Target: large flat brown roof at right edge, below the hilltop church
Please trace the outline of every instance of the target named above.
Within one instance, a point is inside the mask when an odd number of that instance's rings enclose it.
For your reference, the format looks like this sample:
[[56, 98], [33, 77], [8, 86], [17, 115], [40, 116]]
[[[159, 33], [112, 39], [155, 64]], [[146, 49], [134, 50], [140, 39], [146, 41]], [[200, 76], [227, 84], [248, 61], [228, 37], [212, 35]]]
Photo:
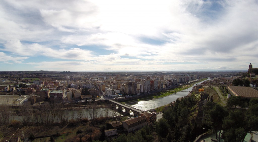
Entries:
[[244, 86], [228, 86], [236, 96], [241, 97], [258, 97], [258, 90], [255, 90], [251, 87]]

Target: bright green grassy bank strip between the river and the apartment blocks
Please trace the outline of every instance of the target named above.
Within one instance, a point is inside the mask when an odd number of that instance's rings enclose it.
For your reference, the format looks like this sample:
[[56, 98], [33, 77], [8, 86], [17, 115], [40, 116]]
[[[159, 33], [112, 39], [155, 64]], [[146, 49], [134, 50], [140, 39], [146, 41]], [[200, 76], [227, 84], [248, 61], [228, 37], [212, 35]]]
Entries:
[[[201, 82], [201, 81], [204, 81], [206, 79], [207, 78], [204, 78], [204, 79], [201, 79], [197, 82]], [[197, 82], [194, 82], [194, 83], [197, 83]], [[180, 88], [174, 88], [174, 89], [171, 89], [171, 90], [166, 90], [165, 92], [158, 92], [158, 93], [150, 94], [150, 95], [142, 97], [142, 98], [132, 99], [130, 101], [125, 101], [125, 102], [121, 102], [121, 103], [126, 104], [126, 103], [132, 103], [132, 102], [136, 102], [136, 101], [139, 102], [139, 101], [146, 101], [146, 100], [155, 99], [155, 98], [166, 97], [168, 95], [175, 94], [176, 92], [182, 91], [182, 90], [190, 88], [190, 87], [192, 87], [192, 85], [184, 85]]]

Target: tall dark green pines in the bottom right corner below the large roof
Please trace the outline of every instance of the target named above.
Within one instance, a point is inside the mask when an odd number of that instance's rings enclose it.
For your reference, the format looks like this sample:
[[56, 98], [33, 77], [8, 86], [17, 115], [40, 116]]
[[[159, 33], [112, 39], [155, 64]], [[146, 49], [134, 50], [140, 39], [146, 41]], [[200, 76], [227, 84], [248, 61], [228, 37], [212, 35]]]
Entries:
[[209, 133], [223, 130], [224, 141], [243, 141], [247, 133], [258, 130], [257, 110], [258, 98], [252, 98], [248, 102], [240, 96], [231, 96], [225, 107], [206, 103], [203, 123], [210, 128]]

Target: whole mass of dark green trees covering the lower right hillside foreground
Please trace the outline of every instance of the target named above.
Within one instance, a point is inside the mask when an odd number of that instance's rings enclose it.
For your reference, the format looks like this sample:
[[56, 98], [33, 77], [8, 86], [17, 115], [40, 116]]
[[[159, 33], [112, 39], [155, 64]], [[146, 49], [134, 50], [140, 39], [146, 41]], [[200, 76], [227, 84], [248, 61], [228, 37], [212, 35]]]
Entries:
[[[246, 109], [248, 107], [248, 109]], [[201, 122], [196, 121], [197, 110]], [[220, 141], [241, 142], [246, 134], [258, 130], [258, 98], [249, 102], [239, 96], [231, 96], [227, 105], [221, 106], [212, 102], [198, 103], [194, 97], [184, 97], [176, 100], [164, 113], [163, 118], [146, 129], [142, 128], [135, 133], [121, 135], [112, 141], [194, 141], [199, 135], [207, 132], [216, 135]], [[223, 131], [223, 133], [221, 133]]]

